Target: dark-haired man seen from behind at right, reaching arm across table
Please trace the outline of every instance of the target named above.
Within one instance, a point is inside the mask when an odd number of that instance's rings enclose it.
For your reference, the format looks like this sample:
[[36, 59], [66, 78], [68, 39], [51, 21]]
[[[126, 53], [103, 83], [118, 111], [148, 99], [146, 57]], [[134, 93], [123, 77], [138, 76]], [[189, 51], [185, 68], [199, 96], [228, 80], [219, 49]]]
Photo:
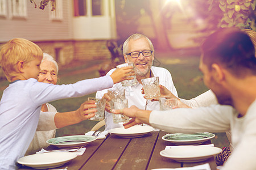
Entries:
[[[146, 123], [174, 132], [232, 131], [234, 150], [223, 169], [256, 169], [256, 59], [246, 33], [222, 28], [201, 45], [204, 83], [221, 105], [171, 111], [143, 111], [134, 106], [113, 113], [133, 118], [125, 128]], [[234, 108], [236, 108], [236, 110]]]

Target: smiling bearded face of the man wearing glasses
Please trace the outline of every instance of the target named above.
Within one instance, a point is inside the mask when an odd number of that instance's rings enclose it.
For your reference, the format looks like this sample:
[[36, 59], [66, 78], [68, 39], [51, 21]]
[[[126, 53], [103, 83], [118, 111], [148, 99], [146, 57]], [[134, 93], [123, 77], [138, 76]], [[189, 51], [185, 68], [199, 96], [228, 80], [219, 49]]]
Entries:
[[[129, 41], [127, 53], [142, 52], [144, 50], [152, 50], [150, 48], [149, 42], [144, 37], [142, 37], [141, 39]], [[140, 54], [138, 58], [131, 58], [130, 55], [126, 56], [126, 54], [124, 55], [124, 57], [125, 62], [129, 61], [134, 63], [134, 70], [136, 76], [141, 76], [143, 78], [150, 77], [150, 69], [154, 60], [154, 52], [149, 57], [144, 57], [142, 54]]]

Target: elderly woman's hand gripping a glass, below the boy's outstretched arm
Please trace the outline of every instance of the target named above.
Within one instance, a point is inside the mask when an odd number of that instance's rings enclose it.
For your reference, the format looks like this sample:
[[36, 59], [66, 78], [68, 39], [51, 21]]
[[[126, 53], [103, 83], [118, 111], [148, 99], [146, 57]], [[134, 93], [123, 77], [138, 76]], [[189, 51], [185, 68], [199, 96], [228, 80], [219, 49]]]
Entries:
[[[96, 109], [96, 101], [94, 100], [88, 100], [81, 104], [80, 108], [76, 111], [77, 118], [80, 119], [80, 121], [87, 120], [88, 118], [91, 118], [95, 116]], [[95, 109], [89, 109], [89, 108], [95, 108]], [[91, 114], [93, 113], [93, 114]]]

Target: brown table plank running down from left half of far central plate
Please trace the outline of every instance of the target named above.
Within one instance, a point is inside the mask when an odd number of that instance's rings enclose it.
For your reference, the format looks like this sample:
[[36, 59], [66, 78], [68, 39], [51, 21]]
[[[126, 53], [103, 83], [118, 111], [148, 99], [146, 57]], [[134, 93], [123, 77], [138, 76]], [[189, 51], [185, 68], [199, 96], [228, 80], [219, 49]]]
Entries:
[[86, 162], [81, 169], [112, 169], [120, 155], [129, 145], [130, 138], [119, 138], [113, 134], [105, 140], [97, 152]]

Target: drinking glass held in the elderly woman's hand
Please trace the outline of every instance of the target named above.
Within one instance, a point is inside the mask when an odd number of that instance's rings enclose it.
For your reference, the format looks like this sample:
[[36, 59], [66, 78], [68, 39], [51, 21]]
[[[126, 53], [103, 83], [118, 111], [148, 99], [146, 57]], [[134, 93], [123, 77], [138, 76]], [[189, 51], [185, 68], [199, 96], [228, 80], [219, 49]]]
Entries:
[[[94, 121], [101, 121], [104, 120], [105, 118], [105, 105], [106, 105], [106, 99], [96, 99], [95, 97], [88, 97], [88, 100], [94, 100], [96, 101], [96, 109], [97, 112], [95, 113], [95, 116], [89, 118], [89, 120], [94, 120]], [[89, 108], [89, 109], [94, 109], [94, 108]], [[88, 109], [88, 110], [89, 110]], [[92, 113], [90, 113], [92, 114]]]

